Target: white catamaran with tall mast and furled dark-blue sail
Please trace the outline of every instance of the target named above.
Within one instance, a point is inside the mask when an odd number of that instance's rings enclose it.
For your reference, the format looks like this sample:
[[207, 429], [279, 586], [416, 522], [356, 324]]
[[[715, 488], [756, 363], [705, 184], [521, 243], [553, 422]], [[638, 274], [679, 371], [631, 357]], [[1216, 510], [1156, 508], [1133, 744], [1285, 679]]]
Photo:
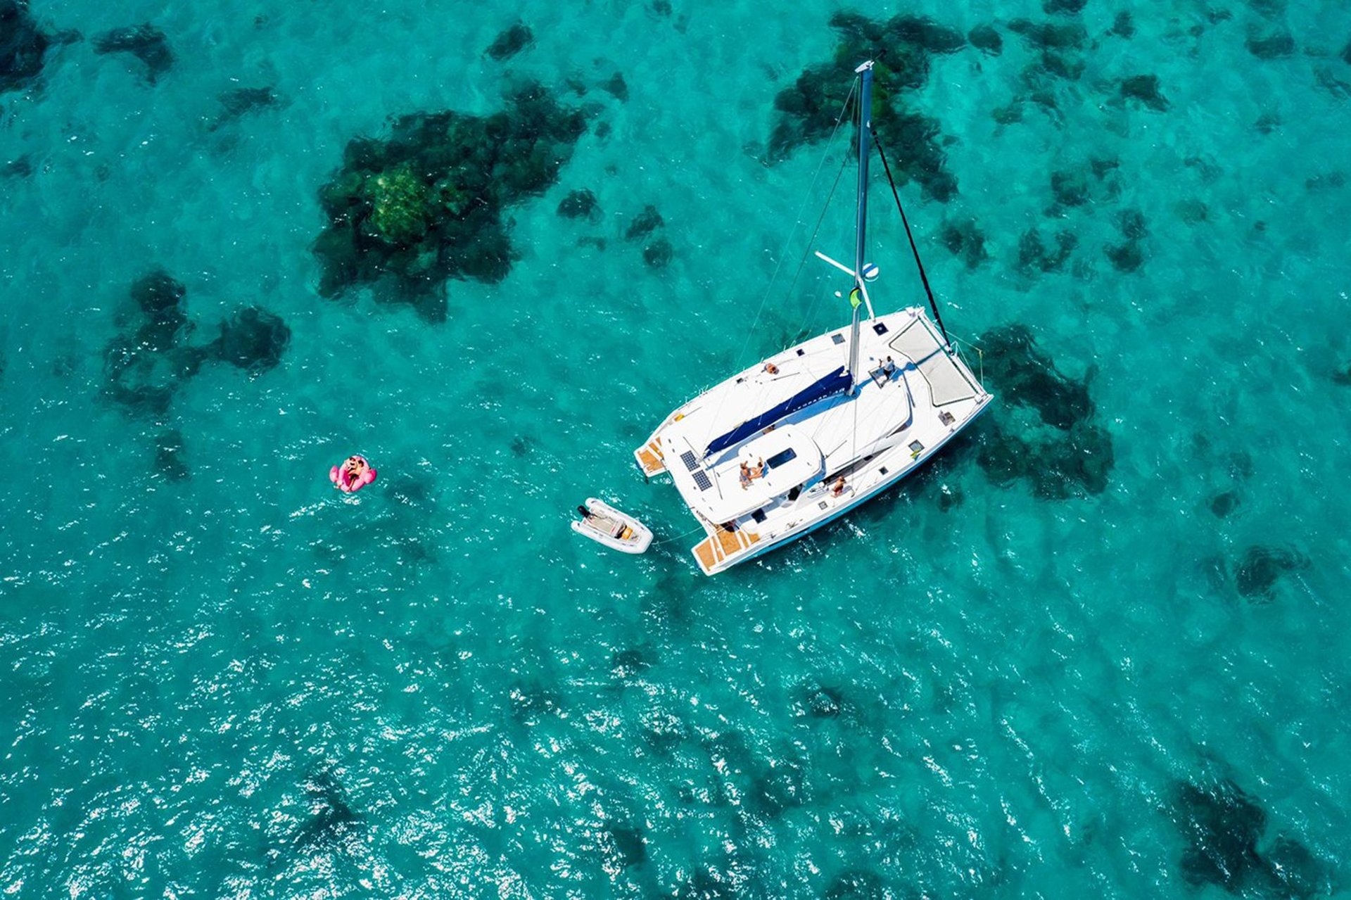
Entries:
[[634, 451], [644, 474], [671, 474], [703, 523], [708, 536], [693, 553], [705, 574], [875, 497], [924, 465], [992, 399], [948, 339], [932, 293], [934, 320], [920, 307], [873, 311], [867, 285], [877, 268], [863, 257], [873, 62], [855, 72], [862, 85], [854, 268], [816, 254], [852, 280], [852, 323], [709, 388]]

